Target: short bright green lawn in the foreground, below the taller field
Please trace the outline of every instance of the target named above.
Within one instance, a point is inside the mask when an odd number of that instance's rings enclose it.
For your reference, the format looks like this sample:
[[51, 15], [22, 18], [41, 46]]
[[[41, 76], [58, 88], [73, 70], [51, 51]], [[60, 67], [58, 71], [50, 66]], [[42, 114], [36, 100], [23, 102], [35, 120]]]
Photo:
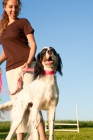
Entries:
[[[48, 132], [46, 133], [48, 137]], [[5, 140], [7, 132], [0, 133], [0, 140]], [[12, 138], [16, 140], [16, 138]], [[80, 128], [80, 132], [54, 132], [54, 140], [93, 140], [93, 128]]]

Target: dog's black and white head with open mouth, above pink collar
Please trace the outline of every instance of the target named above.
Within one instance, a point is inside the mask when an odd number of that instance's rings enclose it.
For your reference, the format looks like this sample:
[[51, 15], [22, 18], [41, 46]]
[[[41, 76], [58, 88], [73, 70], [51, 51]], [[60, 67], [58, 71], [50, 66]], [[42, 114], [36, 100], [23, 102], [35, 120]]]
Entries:
[[34, 77], [44, 75], [44, 70], [54, 70], [62, 75], [62, 60], [53, 47], [44, 47], [37, 55]]

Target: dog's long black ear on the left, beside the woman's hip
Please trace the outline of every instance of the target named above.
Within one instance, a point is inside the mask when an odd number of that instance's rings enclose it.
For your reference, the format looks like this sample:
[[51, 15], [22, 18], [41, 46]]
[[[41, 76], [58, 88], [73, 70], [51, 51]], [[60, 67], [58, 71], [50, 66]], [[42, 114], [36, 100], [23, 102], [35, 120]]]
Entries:
[[43, 65], [42, 65], [42, 60], [41, 60], [41, 54], [39, 53], [36, 58], [36, 64], [34, 68], [34, 79], [37, 78], [38, 75], [43, 74]]

